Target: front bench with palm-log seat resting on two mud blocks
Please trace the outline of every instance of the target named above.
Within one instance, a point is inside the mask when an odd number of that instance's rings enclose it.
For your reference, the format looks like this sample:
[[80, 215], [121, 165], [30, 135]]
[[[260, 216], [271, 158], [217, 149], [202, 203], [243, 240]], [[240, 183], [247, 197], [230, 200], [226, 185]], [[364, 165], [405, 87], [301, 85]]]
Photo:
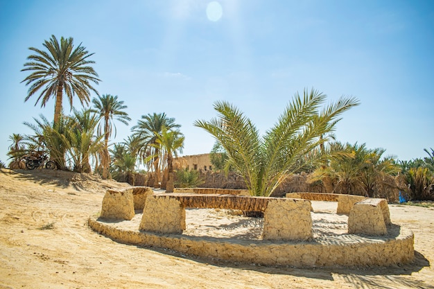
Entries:
[[184, 208], [263, 211], [264, 240], [309, 240], [312, 237], [309, 200], [238, 195], [149, 195], [139, 228], [158, 233], [180, 234], [185, 229]]

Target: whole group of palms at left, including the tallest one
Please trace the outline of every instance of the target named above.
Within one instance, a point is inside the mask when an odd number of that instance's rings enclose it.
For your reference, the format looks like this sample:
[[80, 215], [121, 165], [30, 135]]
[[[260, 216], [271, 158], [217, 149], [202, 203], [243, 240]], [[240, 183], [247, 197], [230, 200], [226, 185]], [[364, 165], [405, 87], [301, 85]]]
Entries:
[[[43, 43], [44, 49], [29, 48], [33, 53], [21, 71], [30, 71], [22, 82], [29, 85], [27, 101], [37, 95], [35, 105], [44, 107], [51, 98], [55, 99], [54, 119], [51, 123], [45, 116], [35, 119], [35, 123], [25, 123], [34, 132], [10, 137], [9, 156], [19, 168], [23, 155], [34, 150], [44, 150], [59, 169], [71, 169], [76, 172], [90, 173], [91, 163], [94, 171], [104, 178], [110, 173], [128, 173], [130, 177], [140, 164], [153, 170], [155, 186], [160, 184], [160, 172], [163, 171], [163, 185], [168, 181], [168, 189], [173, 187], [173, 155], [182, 151], [184, 137], [178, 130], [180, 125], [166, 114], [148, 114], [133, 127], [133, 134], [123, 143], [110, 148], [110, 137], [116, 126], [114, 121], [125, 125], [131, 121], [125, 112], [127, 108], [118, 96], [105, 94], [100, 96], [93, 85], [101, 80], [92, 67], [94, 64], [84, 46], [74, 46], [71, 37], [61, 37], [60, 41], [52, 35]], [[90, 93], [97, 97], [89, 105]], [[72, 114], [63, 114], [62, 100], [66, 96]], [[83, 110], [73, 107], [73, 98], [77, 97]], [[132, 180], [134, 182], [134, 180]]]

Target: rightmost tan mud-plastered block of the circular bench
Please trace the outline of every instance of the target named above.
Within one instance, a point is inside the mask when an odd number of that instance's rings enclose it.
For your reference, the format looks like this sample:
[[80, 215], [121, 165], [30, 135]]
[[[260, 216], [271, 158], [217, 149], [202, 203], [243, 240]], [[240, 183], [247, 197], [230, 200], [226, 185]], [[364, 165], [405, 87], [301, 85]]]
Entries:
[[[387, 206], [387, 212], [383, 212]], [[386, 225], [390, 224], [387, 201], [384, 199], [366, 199], [356, 202], [349, 212], [348, 233], [365, 235], [385, 235]]]

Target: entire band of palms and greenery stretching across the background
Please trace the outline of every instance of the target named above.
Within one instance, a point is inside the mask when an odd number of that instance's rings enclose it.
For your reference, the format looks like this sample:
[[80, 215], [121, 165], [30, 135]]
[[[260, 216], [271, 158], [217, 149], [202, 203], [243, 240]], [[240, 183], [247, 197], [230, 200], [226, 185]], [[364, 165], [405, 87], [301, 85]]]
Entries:
[[[58, 170], [113, 177], [166, 192], [175, 186], [216, 186], [205, 182], [209, 171], [175, 166], [184, 148], [184, 135], [181, 125], [164, 112], [142, 115], [127, 139], [113, 143], [116, 125], [130, 125], [131, 119], [119, 96], [100, 94], [96, 89], [101, 80], [94, 70], [94, 53], [81, 44], [75, 46], [71, 37], [58, 40], [52, 35], [42, 46], [29, 48], [32, 54], [21, 69], [28, 73], [22, 81], [28, 86], [24, 100], [34, 99], [41, 107], [54, 103], [53, 121], [40, 115], [33, 123], [24, 123], [33, 133], [10, 135], [9, 168], [24, 169], [27, 161], [44, 154], [45, 161], [53, 161]], [[70, 114], [64, 114], [65, 97]], [[77, 100], [80, 108], [74, 106]], [[216, 118], [194, 123], [216, 139], [210, 154], [212, 174], [219, 179], [236, 175], [241, 179], [237, 186], [257, 196], [300, 189], [295, 183], [302, 179], [303, 188], [327, 193], [401, 202], [434, 200], [432, 148], [425, 149], [427, 155], [422, 159], [398, 161], [384, 155], [382, 148], [340, 143], [333, 136], [336, 123], [359, 102], [342, 97], [324, 107], [326, 100], [315, 89], [295, 94], [264, 135], [237, 107], [217, 101]], [[0, 161], [0, 167], [6, 164]]]

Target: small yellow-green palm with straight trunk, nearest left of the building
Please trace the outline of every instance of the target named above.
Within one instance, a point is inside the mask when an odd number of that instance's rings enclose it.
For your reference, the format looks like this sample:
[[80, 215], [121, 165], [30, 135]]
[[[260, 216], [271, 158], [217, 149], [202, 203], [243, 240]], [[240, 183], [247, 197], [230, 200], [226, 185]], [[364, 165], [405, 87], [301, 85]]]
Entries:
[[184, 148], [184, 135], [179, 130], [167, 130], [162, 128], [162, 133], [157, 136], [157, 144], [164, 151], [167, 166], [166, 193], [173, 193], [173, 155], [177, 157], [177, 152], [182, 152]]

